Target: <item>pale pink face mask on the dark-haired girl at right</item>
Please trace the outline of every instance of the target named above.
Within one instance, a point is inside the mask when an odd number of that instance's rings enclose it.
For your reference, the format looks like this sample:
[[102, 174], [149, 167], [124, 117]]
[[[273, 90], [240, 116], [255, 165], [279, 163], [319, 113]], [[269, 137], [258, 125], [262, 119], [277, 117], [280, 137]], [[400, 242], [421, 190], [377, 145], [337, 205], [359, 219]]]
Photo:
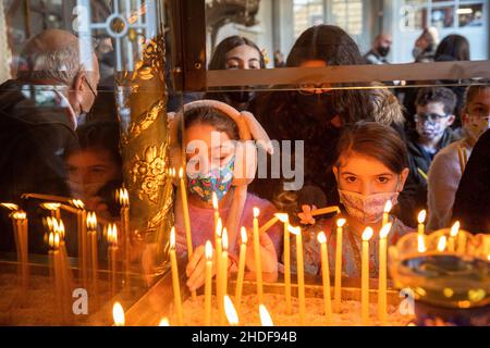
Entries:
[[393, 207], [399, 202], [399, 192], [381, 192], [375, 195], [360, 195], [339, 189], [341, 203], [347, 214], [364, 224], [375, 224], [383, 217], [384, 206], [391, 201]]

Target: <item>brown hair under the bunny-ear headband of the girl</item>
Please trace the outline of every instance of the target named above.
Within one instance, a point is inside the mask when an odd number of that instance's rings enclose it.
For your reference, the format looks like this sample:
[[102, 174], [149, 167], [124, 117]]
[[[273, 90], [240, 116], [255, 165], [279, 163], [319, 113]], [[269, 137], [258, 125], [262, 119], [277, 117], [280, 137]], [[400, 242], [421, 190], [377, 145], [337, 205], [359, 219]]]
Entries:
[[[223, 112], [211, 108], [197, 108], [185, 113], [184, 129], [198, 124], [210, 125], [218, 132], [224, 132], [232, 140], [240, 140], [240, 130], [236, 123]], [[179, 127], [182, 129], [182, 127]], [[182, 144], [182, 134], [177, 133], [179, 144]]]

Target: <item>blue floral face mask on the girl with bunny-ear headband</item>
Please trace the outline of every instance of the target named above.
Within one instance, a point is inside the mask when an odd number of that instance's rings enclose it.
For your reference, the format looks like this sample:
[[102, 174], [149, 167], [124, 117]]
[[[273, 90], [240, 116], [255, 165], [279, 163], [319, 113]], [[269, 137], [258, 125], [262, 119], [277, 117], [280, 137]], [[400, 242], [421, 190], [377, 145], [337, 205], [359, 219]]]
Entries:
[[212, 192], [218, 200], [222, 200], [230, 190], [233, 183], [233, 171], [235, 158], [219, 169], [213, 169], [206, 174], [197, 174], [193, 177], [187, 175], [187, 188], [189, 192], [197, 195], [205, 202], [212, 201]]

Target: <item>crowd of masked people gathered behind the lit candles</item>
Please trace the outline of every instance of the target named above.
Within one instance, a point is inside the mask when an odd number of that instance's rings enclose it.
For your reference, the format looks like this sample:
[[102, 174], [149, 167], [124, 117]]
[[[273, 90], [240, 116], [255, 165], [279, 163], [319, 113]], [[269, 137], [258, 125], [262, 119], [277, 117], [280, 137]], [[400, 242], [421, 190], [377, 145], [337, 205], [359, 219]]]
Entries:
[[[22, 200], [23, 194], [73, 197], [83, 199], [87, 209], [102, 219], [115, 220], [113, 192], [123, 181], [118, 117], [114, 114], [113, 120], [100, 121], [97, 115], [87, 116], [97, 105], [105, 109], [107, 98], [98, 94], [97, 58], [94, 55], [91, 64], [84, 62], [78, 45], [75, 36], [59, 29], [35, 36], [23, 51], [24, 64], [16, 78], [0, 86], [0, 201], [20, 203], [29, 215], [41, 216], [46, 212], [39, 210], [38, 203], [29, 206]], [[284, 66], [387, 63], [390, 45], [391, 37], [380, 35], [371, 51], [363, 57], [342, 28], [317, 25], [299, 36]], [[468, 44], [457, 35], [439, 42], [433, 29], [428, 28], [414, 45], [414, 60], [469, 60]], [[257, 45], [238, 36], [221, 41], [209, 64], [210, 70], [265, 67], [265, 57]], [[212, 90], [200, 97], [204, 102], [191, 103], [182, 113], [184, 134], [179, 136], [177, 146], [187, 148], [197, 140], [218, 146], [221, 154], [212, 158], [210, 151], [197, 175], [187, 173], [196, 248], [186, 269], [189, 288], [203, 285], [204, 244], [206, 239], [213, 240], [211, 192], [219, 199], [219, 212], [229, 228], [232, 261], [236, 261], [238, 227], [252, 229], [253, 208], [257, 207], [261, 211], [260, 224], [275, 212], [287, 212], [292, 223], [304, 227], [305, 265], [310, 273], [318, 272], [319, 256], [318, 248], [309, 248], [308, 243], [315, 243], [315, 233], [320, 229], [328, 236], [335, 234], [335, 219], [314, 219], [314, 207], [342, 208], [348, 237], [344, 271], [350, 276], [359, 274], [360, 234], [366, 226], [379, 231], [387, 201], [394, 207], [390, 244], [414, 229], [421, 209], [428, 209], [429, 231], [449, 227], [458, 219], [462, 227], [471, 233], [488, 233], [490, 84], [480, 80], [469, 87], [443, 87], [444, 82], [431, 85], [393, 92], [376, 82], [355, 86], [302, 85], [294, 90], [272, 88], [267, 92], [247, 88]], [[213, 132], [220, 135], [219, 144], [211, 139]], [[246, 139], [257, 144], [268, 139], [304, 141], [304, 159], [299, 161], [303, 188], [284, 190], [286, 177], [238, 179], [237, 169], [247, 167], [249, 163], [245, 162], [250, 160], [226, 144]], [[463, 158], [469, 158], [467, 163], [461, 161], [462, 151]], [[187, 153], [187, 161], [196, 154]], [[184, 252], [185, 228], [179, 208], [182, 202], [180, 195], [175, 197], [179, 249]], [[10, 223], [3, 217], [0, 248], [12, 250]], [[29, 224], [33, 234], [42, 229], [30, 220]], [[274, 226], [261, 235], [265, 272], [278, 272], [281, 234], [281, 228]], [[34, 251], [46, 248], [40, 232], [29, 238], [29, 247]], [[377, 252], [371, 251], [376, 272]], [[249, 252], [254, 252], [253, 246]], [[231, 264], [233, 268], [236, 262]], [[254, 270], [253, 262], [247, 266]]]

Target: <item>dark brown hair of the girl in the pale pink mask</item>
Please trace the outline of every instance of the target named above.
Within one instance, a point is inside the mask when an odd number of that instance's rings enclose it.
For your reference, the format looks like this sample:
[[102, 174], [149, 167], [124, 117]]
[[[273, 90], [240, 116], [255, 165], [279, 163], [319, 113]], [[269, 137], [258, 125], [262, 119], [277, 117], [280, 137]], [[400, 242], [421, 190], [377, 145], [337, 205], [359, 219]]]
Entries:
[[352, 152], [377, 159], [396, 174], [408, 167], [408, 151], [400, 135], [377, 122], [357, 122], [347, 126], [338, 142], [336, 166]]

